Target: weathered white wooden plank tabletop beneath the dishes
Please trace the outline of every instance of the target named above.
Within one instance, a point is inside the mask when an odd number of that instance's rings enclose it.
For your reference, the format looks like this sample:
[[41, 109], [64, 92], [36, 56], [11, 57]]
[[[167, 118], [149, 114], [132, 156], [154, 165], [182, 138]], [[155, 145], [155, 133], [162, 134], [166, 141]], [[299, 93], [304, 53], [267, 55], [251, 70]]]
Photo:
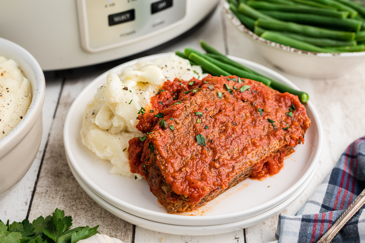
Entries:
[[[221, 52], [249, 59], [275, 70], [257, 54], [250, 40], [226, 21], [220, 7], [193, 34], [159, 52], [183, 51], [188, 46], [200, 49], [200, 39], [206, 40]], [[78, 77], [66, 75], [46, 79], [41, 147], [27, 174], [0, 201], [1, 220], [22, 221], [26, 217], [33, 220], [40, 215], [51, 214], [58, 207], [65, 210], [66, 215], [73, 217], [74, 227], [100, 224], [101, 233], [119, 238], [123, 242], [251, 243], [275, 240], [278, 215], [256, 226], [227, 234], [180, 236], [136, 227], [97, 205], [77, 184], [67, 165], [62, 132], [73, 100], [89, 82], [104, 71], [106, 70], [97, 70]], [[347, 145], [365, 134], [365, 68], [358, 67], [344, 77], [334, 79], [308, 79], [282, 74], [310, 95], [310, 100], [318, 110], [324, 132], [323, 150], [314, 179], [306, 191], [282, 212], [294, 215], [332, 169]]]

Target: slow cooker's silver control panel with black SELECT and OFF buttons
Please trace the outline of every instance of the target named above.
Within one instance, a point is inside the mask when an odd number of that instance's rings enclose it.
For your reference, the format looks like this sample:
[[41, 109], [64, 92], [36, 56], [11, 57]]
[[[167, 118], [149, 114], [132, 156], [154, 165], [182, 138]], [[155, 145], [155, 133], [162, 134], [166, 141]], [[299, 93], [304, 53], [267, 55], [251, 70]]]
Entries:
[[77, 0], [81, 45], [98, 52], [173, 28], [187, 0]]

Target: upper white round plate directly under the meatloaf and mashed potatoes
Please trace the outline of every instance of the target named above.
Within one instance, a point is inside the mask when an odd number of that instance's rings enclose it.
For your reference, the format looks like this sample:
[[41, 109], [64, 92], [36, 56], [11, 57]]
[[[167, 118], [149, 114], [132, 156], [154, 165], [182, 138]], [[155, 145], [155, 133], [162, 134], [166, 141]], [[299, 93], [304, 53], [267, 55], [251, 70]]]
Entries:
[[[147, 56], [143, 59], [153, 60], [164, 55], [166, 54]], [[233, 56], [230, 58], [267, 77], [298, 89], [287, 78], [267, 67]], [[136, 62], [137, 60], [133, 60], [124, 63], [113, 70], [119, 73], [121, 68]], [[82, 145], [80, 137], [82, 114], [87, 103], [96, 94], [97, 87], [105, 83], [107, 73], [92, 81], [73, 102], [65, 121], [64, 143], [70, 164], [88, 187], [103, 200], [127, 213], [160, 223], [185, 226], [236, 222], [268, 211], [288, 199], [303, 185], [318, 163], [322, 147], [322, 129], [313, 105], [308, 102], [307, 114], [312, 119], [312, 125], [307, 130], [306, 142], [304, 145], [296, 146], [296, 152], [284, 161], [285, 164], [280, 173], [264, 181], [247, 179], [194, 213], [168, 214], [157, 203], [145, 180], [111, 174], [109, 172], [111, 163], [97, 158], [93, 152]]]

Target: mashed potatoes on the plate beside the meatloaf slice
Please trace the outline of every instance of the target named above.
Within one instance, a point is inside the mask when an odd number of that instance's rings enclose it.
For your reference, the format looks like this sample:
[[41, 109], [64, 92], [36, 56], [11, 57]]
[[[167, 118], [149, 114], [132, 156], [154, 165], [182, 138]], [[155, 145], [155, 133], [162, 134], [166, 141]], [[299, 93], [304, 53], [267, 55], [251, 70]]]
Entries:
[[192, 67], [175, 54], [154, 62], [139, 61], [119, 76], [109, 72], [106, 83], [86, 107], [80, 131], [82, 143], [99, 158], [111, 161], [111, 173], [141, 179], [141, 175], [130, 172], [128, 160], [128, 141], [145, 136], [135, 128], [138, 111], [168, 79], [193, 77], [203, 78], [201, 68]]

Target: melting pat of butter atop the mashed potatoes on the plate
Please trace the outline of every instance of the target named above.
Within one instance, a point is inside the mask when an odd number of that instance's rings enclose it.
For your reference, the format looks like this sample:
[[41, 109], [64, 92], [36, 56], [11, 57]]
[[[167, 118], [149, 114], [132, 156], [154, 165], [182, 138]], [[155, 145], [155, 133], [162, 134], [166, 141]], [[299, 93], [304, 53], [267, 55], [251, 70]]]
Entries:
[[127, 79], [137, 82], [147, 82], [153, 85], [161, 85], [164, 81], [164, 74], [161, 68], [153, 64], [143, 66], [139, 71], [127, 71], [124, 75]]

